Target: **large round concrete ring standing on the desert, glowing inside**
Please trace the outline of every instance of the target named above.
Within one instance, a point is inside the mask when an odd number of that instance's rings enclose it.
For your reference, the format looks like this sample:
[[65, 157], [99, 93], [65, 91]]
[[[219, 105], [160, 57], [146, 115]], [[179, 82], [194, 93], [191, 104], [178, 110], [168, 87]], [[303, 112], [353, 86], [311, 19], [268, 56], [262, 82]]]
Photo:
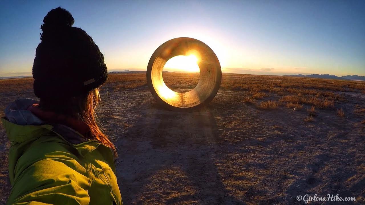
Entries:
[[[166, 86], [162, 78], [165, 63], [177, 55], [195, 55], [200, 68], [200, 80], [188, 92], [175, 92]], [[214, 51], [200, 40], [174, 38], [152, 54], [147, 66], [147, 85], [153, 95], [165, 108], [175, 111], [192, 111], [210, 102], [217, 94], [222, 80], [222, 70]]]

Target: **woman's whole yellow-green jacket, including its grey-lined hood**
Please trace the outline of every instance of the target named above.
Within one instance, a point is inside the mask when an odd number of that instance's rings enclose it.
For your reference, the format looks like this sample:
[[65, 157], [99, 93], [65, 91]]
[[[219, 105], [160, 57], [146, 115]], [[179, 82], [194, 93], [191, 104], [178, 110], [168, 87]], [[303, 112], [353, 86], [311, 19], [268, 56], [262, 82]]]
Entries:
[[23, 98], [1, 119], [11, 142], [8, 204], [123, 204], [111, 149], [61, 124], [44, 124]]

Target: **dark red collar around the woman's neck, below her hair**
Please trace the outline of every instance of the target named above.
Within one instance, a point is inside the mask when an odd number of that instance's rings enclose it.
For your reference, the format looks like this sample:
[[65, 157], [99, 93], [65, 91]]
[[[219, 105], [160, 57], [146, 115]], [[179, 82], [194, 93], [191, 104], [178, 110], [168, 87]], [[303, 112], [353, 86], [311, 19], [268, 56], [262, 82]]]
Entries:
[[90, 128], [85, 122], [52, 111], [43, 111], [38, 106], [39, 104], [33, 104], [29, 106], [27, 110], [31, 111], [41, 120], [66, 125], [79, 132], [85, 138], [88, 138], [88, 135], [90, 134]]

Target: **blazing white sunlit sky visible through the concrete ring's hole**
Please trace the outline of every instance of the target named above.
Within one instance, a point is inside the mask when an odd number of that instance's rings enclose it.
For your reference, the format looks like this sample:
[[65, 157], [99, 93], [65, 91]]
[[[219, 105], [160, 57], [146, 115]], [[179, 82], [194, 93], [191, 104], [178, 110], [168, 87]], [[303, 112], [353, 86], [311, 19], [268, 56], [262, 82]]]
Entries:
[[198, 73], [200, 72], [198, 62], [199, 59], [194, 54], [177, 55], [166, 62], [164, 71]]

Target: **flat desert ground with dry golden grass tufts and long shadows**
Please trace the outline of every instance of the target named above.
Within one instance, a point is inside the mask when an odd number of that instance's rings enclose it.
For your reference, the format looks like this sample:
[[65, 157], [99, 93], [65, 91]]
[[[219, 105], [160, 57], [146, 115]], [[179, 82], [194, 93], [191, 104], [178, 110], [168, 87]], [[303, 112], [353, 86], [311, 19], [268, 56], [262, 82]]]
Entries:
[[[164, 73], [177, 91], [195, 73]], [[172, 112], [145, 74], [111, 74], [97, 114], [118, 148], [124, 204], [365, 204], [365, 82], [223, 73], [210, 104]], [[36, 98], [32, 78], [1, 80], [0, 108]], [[0, 127], [0, 204], [11, 190]]]

